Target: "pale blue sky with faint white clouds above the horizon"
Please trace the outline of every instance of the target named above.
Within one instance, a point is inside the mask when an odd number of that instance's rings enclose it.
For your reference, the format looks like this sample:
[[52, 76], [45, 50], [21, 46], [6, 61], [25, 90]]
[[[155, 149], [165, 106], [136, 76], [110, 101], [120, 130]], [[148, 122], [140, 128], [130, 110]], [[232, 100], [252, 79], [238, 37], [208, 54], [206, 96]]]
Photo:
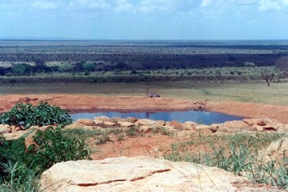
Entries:
[[288, 39], [288, 0], [0, 0], [0, 38]]

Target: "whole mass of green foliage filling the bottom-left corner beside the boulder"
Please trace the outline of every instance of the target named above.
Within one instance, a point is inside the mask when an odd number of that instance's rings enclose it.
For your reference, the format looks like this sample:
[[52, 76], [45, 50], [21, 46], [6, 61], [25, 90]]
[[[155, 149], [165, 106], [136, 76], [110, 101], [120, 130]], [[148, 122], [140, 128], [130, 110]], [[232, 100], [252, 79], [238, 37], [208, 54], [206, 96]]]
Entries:
[[38, 144], [25, 148], [25, 139], [0, 138], [0, 191], [38, 191], [38, 178], [52, 165], [67, 160], [90, 159], [84, 141], [60, 128], [37, 132]]

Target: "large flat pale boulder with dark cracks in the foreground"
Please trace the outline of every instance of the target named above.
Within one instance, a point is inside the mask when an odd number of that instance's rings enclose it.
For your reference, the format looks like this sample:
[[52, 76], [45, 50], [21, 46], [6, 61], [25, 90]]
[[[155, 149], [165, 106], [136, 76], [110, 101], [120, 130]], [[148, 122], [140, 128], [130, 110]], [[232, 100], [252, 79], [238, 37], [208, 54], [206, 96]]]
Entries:
[[147, 156], [57, 163], [41, 176], [40, 191], [44, 190], [278, 191], [217, 167]]

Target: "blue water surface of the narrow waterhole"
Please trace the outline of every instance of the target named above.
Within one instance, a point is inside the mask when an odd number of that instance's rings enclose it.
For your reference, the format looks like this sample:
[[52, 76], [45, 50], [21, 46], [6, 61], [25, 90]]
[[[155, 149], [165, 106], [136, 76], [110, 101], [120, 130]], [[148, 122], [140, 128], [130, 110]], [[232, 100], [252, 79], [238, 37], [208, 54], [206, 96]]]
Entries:
[[77, 119], [93, 119], [98, 116], [113, 117], [136, 117], [139, 119], [154, 119], [163, 121], [194, 121], [196, 123], [203, 123], [211, 125], [212, 123], [224, 123], [225, 121], [242, 120], [242, 117], [233, 115], [226, 115], [219, 112], [206, 112], [206, 111], [171, 111], [171, 112], [77, 112], [71, 114], [74, 121]]

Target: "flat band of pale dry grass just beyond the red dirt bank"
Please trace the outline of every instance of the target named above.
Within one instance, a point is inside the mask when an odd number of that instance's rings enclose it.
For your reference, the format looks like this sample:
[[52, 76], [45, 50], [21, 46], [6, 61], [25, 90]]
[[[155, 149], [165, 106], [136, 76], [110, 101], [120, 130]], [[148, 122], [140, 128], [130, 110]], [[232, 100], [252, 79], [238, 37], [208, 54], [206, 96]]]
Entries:
[[95, 94], [144, 96], [146, 88], [162, 97], [209, 101], [240, 101], [261, 104], [288, 105], [288, 83], [199, 83], [159, 82], [154, 84], [14, 84], [1, 85], [2, 94]]

